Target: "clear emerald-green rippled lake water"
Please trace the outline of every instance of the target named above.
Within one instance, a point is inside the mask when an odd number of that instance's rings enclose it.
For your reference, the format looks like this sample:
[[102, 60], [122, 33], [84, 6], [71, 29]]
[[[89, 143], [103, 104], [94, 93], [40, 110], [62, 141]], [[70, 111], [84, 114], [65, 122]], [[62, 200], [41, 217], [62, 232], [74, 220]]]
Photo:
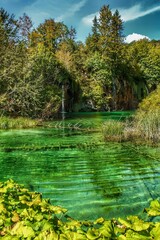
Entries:
[[[0, 181], [12, 178], [42, 192], [77, 219], [139, 214], [159, 197], [160, 149], [104, 143], [100, 132], [85, 131], [125, 116], [74, 114], [64, 129], [1, 131]], [[67, 129], [77, 123], [83, 130]]]

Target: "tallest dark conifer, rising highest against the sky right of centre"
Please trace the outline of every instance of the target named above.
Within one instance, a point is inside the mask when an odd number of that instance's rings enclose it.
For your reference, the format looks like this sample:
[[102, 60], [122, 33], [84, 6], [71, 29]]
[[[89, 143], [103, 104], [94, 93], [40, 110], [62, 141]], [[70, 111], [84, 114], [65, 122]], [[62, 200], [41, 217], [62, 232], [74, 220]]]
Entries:
[[[111, 96], [112, 101], [110, 101], [110, 105], [112, 106], [110, 107], [112, 109], [116, 109], [118, 99], [117, 86], [120, 85], [119, 81], [121, 81], [120, 66], [123, 61], [122, 30], [123, 22], [119, 12], [116, 10], [115, 13], [112, 14], [109, 5], [105, 5], [100, 9], [99, 18], [94, 18], [92, 34], [86, 41], [88, 52], [98, 52], [105, 62], [105, 69], [107, 69], [109, 74], [106, 75], [106, 82], [103, 80], [103, 92], [106, 96]], [[110, 79], [109, 81], [112, 82], [109, 85], [108, 78]], [[108, 88], [108, 86], [110, 86], [110, 88]], [[106, 105], [108, 106], [108, 103], [106, 103]]]

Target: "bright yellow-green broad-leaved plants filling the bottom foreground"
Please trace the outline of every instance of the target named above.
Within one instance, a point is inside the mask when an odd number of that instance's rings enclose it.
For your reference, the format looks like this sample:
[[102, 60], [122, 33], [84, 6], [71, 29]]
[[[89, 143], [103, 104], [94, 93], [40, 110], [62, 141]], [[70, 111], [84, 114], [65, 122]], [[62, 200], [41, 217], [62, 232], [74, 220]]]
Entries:
[[[37, 192], [29, 192], [12, 180], [0, 183], [0, 238], [6, 240], [160, 239], [160, 223], [145, 222], [137, 216], [127, 220], [77, 221], [66, 209], [52, 206]], [[145, 209], [148, 216], [160, 215], [160, 202]]]

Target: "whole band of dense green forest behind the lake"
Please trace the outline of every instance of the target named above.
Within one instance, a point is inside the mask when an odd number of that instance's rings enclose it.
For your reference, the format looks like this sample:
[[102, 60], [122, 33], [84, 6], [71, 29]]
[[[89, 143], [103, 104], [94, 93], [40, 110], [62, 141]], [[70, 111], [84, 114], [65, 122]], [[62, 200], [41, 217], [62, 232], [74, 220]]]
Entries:
[[46, 19], [37, 28], [0, 9], [0, 113], [53, 119], [65, 110], [134, 110], [160, 81], [160, 41], [125, 43], [123, 21], [108, 5], [85, 42], [74, 27]]

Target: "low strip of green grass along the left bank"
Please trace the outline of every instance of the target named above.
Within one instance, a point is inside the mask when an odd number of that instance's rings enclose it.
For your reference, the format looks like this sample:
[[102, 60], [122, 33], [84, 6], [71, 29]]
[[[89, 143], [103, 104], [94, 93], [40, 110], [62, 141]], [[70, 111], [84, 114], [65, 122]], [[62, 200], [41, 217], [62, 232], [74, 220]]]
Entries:
[[21, 128], [33, 128], [39, 125], [38, 120], [29, 118], [10, 118], [0, 117], [0, 129], [21, 129]]

